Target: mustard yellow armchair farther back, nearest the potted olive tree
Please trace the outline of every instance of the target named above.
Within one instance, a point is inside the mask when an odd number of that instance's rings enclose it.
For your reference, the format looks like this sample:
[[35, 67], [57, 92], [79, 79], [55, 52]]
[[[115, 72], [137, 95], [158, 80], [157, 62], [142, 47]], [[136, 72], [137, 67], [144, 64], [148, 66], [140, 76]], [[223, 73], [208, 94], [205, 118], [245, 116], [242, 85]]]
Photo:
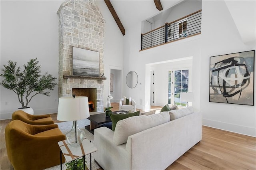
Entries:
[[50, 125], [54, 124], [51, 115], [30, 115], [18, 110], [12, 113], [12, 120], [20, 120], [30, 125]]

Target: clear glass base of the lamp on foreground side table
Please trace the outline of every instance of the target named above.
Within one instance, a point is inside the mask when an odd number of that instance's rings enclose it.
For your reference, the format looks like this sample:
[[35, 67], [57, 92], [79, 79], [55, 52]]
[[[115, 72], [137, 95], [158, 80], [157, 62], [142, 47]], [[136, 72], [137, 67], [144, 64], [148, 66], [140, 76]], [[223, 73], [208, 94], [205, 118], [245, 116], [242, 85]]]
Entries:
[[66, 140], [72, 147], [78, 147], [84, 140], [85, 131], [78, 127], [77, 121], [73, 121], [72, 129], [66, 133]]

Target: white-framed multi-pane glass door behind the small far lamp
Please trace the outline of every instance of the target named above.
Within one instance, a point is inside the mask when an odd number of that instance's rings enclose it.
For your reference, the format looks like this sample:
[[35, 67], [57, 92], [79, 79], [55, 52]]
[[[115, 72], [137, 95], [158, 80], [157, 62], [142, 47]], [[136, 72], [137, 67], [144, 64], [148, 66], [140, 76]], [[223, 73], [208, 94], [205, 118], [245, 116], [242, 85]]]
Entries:
[[189, 69], [169, 71], [168, 104], [186, 106], [186, 102], [180, 101], [180, 92], [188, 92], [190, 89], [189, 72]]

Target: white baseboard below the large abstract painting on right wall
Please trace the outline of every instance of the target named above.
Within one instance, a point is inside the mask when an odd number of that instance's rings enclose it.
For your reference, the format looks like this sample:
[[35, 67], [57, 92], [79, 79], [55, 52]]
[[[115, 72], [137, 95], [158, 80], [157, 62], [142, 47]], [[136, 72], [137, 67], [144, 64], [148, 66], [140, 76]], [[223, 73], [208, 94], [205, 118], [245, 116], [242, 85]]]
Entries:
[[229, 132], [256, 137], [256, 128], [253, 128], [253, 127], [234, 125], [234, 124], [220, 122], [220, 121], [213, 121], [210, 119], [203, 119], [203, 125], [207, 127], [217, 128], [220, 130], [226, 130]]

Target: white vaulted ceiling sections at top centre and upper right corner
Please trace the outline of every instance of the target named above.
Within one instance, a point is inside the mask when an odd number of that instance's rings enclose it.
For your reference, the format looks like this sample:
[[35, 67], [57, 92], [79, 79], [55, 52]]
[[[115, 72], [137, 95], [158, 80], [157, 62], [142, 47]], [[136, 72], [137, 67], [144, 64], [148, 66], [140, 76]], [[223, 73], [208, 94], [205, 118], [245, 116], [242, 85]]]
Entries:
[[[157, 16], [157, 14], [165, 12], [168, 8], [171, 8], [182, 1], [183, 0], [110, 0], [120, 23], [122, 23], [123, 30], [134, 23], [142, 22], [152, 18], [153, 16]], [[242, 41], [244, 43], [255, 41], [256, 1], [224, 0], [224, 2], [226, 2], [227, 8], [234, 20], [234, 23], [236, 24]], [[163, 8], [161, 11], [157, 9], [161, 9], [160, 4]], [[237, 9], [238, 6], [239, 9]], [[122, 31], [122, 34], [124, 35], [125, 31]]]

